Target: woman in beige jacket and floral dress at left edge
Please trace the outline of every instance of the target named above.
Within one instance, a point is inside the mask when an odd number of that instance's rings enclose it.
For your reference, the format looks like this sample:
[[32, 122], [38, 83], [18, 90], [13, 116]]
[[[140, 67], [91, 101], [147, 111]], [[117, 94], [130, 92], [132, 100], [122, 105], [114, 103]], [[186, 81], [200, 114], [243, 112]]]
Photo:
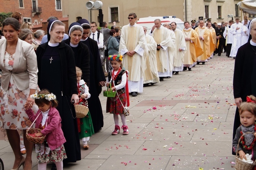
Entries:
[[31, 154], [33, 143], [24, 136], [27, 149], [26, 159], [20, 153], [20, 139], [17, 129], [26, 129], [31, 125], [25, 113], [25, 108], [37, 111], [34, 100], [30, 98], [37, 89], [37, 57], [33, 47], [18, 38], [20, 24], [15, 18], [3, 21], [3, 35], [0, 39], [0, 69], [2, 82], [0, 89], [0, 119], [12, 150], [15, 155], [13, 169], [24, 165], [24, 169], [31, 169]]

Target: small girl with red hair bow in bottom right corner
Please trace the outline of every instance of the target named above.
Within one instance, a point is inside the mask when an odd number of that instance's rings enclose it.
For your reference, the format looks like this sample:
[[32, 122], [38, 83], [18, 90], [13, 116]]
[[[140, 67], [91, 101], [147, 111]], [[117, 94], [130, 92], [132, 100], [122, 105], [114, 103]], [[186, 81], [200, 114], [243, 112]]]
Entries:
[[[236, 136], [233, 139], [233, 151], [236, 153], [238, 149], [238, 154], [240, 159], [245, 159], [245, 155], [248, 153], [253, 154], [253, 160], [256, 159], [256, 97], [251, 95], [246, 97], [246, 102], [241, 103], [239, 107], [239, 115], [241, 126], [236, 131]], [[245, 134], [246, 132], [253, 132]], [[239, 143], [240, 137], [245, 134]]]

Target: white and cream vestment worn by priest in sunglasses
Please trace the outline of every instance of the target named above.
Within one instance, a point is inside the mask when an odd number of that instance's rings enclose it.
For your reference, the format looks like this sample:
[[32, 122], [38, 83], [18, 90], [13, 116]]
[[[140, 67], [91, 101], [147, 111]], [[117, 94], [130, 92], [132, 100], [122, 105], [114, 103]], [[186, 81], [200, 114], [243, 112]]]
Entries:
[[[144, 30], [141, 26], [135, 23], [134, 26], [128, 24], [122, 28], [119, 54], [124, 55], [122, 63], [123, 68], [129, 71], [128, 81], [139, 82], [143, 78], [146, 69], [145, 58], [148, 55], [146, 44]], [[136, 53], [129, 56], [126, 54], [127, 50], [134, 50]]]

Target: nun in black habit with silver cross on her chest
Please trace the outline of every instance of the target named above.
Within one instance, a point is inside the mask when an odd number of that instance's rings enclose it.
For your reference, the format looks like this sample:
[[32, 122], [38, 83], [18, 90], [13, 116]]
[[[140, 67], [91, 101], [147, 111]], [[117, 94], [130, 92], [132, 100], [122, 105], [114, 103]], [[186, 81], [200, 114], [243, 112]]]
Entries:
[[61, 117], [61, 128], [66, 138], [64, 147], [67, 159], [63, 163], [81, 160], [81, 149], [77, 129], [75, 103], [79, 102], [74, 53], [71, 47], [61, 41], [65, 27], [61, 21], [50, 20], [47, 27], [48, 42], [36, 51], [38, 63], [38, 85], [56, 95], [57, 110]]

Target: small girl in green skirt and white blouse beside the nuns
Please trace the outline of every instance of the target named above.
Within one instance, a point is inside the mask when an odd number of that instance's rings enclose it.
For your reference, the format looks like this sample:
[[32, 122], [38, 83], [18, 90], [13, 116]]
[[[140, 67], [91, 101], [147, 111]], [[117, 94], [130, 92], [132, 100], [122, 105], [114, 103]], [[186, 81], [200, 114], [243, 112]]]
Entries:
[[[81, 80], [82, 70], [79, 67], [75, 67], [75, 69], [77, 79], [77, 91], [78, 96], [80, 97], [80, 101], [78, 104], [88, 107], [87, 99], [91, 97], [91, 95], [89, 94], [89, 89], [84, 80]], [[88, 112], [88, 114], [84, 118], [76, 118], [76, 120], [79, 138], [83, 141], [84, 149], [88, 149], [89, 145], [87, 141], [89, 141], [90, 136], [94, 134], [93, 121], [91, 120], [90, 112]]]

